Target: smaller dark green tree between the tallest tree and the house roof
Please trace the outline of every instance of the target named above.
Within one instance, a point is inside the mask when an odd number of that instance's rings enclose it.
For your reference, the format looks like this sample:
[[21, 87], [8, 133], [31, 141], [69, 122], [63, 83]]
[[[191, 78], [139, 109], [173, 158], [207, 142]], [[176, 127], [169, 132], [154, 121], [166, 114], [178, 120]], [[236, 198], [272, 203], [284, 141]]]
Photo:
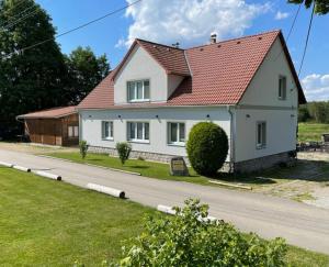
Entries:
[[90, 47], [79, 46], [66, 57], [70, 102], [79, 103], [107, 74], [110, 65], [105, 55], [97, 57]]

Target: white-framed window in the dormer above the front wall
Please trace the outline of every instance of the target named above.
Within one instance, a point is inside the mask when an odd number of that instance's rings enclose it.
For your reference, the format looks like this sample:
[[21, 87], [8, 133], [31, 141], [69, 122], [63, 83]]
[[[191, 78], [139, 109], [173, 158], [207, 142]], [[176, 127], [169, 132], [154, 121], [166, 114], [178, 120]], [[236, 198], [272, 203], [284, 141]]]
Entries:
[[149, 80], [135, 80], [127, 82], [128, 101], [149, 101]]

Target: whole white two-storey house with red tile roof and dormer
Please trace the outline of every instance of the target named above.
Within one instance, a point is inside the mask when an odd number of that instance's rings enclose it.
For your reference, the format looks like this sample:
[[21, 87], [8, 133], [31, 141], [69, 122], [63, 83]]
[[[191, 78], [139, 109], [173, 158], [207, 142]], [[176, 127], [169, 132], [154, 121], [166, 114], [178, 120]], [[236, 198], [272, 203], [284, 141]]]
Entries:
[[281, 31], [188, 49], [136, 40], [78, 105], [80, 138], [110, 154], [127, 141], [134, 157], [168, 162], [212, 121], [229, 138], [227, 166], [249, 171], [288, 159], [305, 102]]

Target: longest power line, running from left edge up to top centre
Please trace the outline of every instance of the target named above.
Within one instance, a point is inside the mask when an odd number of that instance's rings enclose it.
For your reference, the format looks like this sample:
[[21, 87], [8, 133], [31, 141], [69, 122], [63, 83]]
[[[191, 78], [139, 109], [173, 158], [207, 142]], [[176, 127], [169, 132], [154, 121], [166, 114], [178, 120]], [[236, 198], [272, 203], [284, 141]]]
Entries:
[[133, 5], [135, 5], [135, 4], [137, 4], [137, 3], [141, 2], [141, 1], [143, 1], [143, 0], [136, 0], [135, 2], [132, 2], [132, 3], [126, 4], [126, 5], [124, 5], [124, 7], [120, 8], [120, 9], [116, 9], [116, 10], [114, 10], [114, 11], [111, 11], [111, 12], [109, 12], [109, 13], [102, 15], [102, 16], [99, 16], [99, 18], [92, 20], [92, 21], [89, 21], [89, 22], [87, 22], [87, 23], [83, 23], [83, 24], [81, 24], [80, 26], [77, 26], [77, 27], [73, 27], [73, 29], [71, 29], [71, 30], [69, 30], [69, 31], [66, 31], [66, 32], [64, 32], [64, 33], [57, 34], [57, 35], [55, 35], [55, 37], [44, 40], [44, 41], [42, 41], [42, 42], [39, 42], [39, 43], [36, 43], [36, 44], [33, 44], [33, 45], [23, 47], [23, 48], [16, 51], [16, 52], [13, 52], [13, 53], [10, 53], [10, 54], [8, 54], [8, 55], [4, 55], [4, 56], [2, 56], [2, 58], [9, 58], [9, 57], [11, 57], [13, 54], [21, 54], [21, 53], [23, 53], [23, 52], [25, 52], [25, 51], [29, 51], [29, 49], [32, 49], [32, 48], [37, 47], [37, 46], [39, 46], [39, 45], [43, 45], [43, 44], [45, 44], [45, 43], [48, 43], [48, 42], [50, 42], [50, 41], [53, 41], [53, 40], [55, 40], [55, 38], [58, 38], [58, 37], [61, 37], [61, 36], [64, 36], [64, 35], [70, 34], [70, 33], [72, 33], [72, 32], [76, 32], [76, 31], [78, 31], [78, 30], [81, 30], [81, 29], [83, 29], [83, 27], [86, 27], [86, 26], [89, 26], [90, 24], [93, 24], [93, 23], [95, 23], [95, 22], [99, 22], [99, 21], [101, 21], [101, 20], [103, 20], [103, 19], [105, 19], [105, 18], [107, 18], [107, 16], [110, 16], [110, 15], [113, 15], [113, 14], [115, 14], [115, 13], [118, 13], [118, 12], [123, 11], [123, 10], [126, 10], [126, 9], [128, 9], [129, 7], [133, 7]]

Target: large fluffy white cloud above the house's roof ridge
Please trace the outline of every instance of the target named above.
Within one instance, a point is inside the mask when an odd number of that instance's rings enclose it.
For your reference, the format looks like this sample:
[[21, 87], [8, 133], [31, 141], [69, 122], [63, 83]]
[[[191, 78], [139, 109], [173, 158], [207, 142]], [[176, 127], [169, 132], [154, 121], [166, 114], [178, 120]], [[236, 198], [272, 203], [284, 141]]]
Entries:
[[129, 46], [136, 37], [164, 44], [179, 41], [186, 46], [206, 43], [212, 32], [218, 38], [239, 36], [270, 7], [245, 0], [144, 0], [126, 11], [133, 23], [125, 45]]

